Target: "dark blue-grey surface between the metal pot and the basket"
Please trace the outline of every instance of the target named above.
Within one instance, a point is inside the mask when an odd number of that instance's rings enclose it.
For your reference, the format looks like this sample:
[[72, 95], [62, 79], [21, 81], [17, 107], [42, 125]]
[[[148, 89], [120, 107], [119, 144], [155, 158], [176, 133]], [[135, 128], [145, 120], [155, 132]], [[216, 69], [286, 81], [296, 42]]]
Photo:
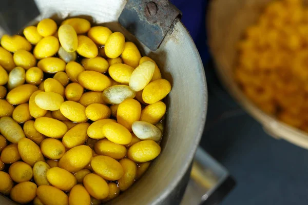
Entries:
[[268, 136], [222, 88], [206, 44], [207, 1], [173, 3], [182, 10], [205, 67], [208, 115], [201, 146], [237, 181], [221, 204], [307, 203], [308, 150]]

